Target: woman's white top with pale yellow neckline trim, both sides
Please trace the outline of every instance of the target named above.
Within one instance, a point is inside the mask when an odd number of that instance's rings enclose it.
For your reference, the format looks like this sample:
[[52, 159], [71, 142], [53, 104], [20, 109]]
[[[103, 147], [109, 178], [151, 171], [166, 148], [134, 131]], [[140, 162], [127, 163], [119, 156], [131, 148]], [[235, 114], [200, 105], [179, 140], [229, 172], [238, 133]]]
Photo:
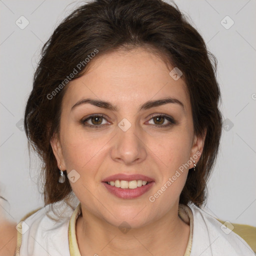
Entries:
[[[81, 205], [79, 203], [75, 209], [64, 205], [59, 209], [63, 207], [66, 207], [66, 218], [58, 221], [46, 215], [47, 206], [25, 216], [17, 225], [14, 256], [80, 256], [75, 223]], [[51, 210], [48, 213], [54, 216]], [[190, 225], [184, 256], [255, 256], [240, 236], [225, 226], [223, 228], [219, 221], [194, 204], [179, 204], [178, 214]]]

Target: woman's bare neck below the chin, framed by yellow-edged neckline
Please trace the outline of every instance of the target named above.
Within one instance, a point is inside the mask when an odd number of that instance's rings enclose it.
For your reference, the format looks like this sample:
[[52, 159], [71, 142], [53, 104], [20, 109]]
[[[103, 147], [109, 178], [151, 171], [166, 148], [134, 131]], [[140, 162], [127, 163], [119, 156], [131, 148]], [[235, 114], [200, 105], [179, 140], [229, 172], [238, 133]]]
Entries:
[[153, 254], [183, 256], [189, 237], [189, 225], [178, 214], [178, 204], [160, 219], [140, 228], [123, 232], [104, 219], [82, 209], [76, 221], [76, 237], [81, 255]]

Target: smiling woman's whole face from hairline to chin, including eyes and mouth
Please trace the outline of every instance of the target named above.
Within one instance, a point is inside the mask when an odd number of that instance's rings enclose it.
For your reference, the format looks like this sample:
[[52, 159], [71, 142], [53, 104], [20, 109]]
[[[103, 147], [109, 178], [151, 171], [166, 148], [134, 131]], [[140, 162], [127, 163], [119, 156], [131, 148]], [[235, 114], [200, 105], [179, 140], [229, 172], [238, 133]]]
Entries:
[[182, 76], [170, 75], [172, 68], [146, 49], [90, 61], [68, 84], [59, 139], [51, 145], [82, 210], [115, 226], [141, 227], [176, 211], [191, 159], [197, 162], [202, 151], [189, 95]]

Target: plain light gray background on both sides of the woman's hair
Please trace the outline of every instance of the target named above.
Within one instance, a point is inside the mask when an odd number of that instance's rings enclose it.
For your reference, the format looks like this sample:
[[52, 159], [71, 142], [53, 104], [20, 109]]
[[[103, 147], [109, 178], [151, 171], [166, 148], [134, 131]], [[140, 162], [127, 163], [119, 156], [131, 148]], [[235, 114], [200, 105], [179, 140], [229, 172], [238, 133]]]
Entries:
[[[175, 2], [218, 59], [226, 120], [205, 211], [222, 220], [256, 226], [256, 1]], [[20, 126], [39, 51], [56, 24], [79, 4], [0, 0], [0, 193], [9, 201], [1, 210], [15, 221], [43, 206], [36, 185], [39, 160], [34, 154], [29, 160]], [[15, 23], [21, 23], [21, 15], [29, 22], [24, 29]]]

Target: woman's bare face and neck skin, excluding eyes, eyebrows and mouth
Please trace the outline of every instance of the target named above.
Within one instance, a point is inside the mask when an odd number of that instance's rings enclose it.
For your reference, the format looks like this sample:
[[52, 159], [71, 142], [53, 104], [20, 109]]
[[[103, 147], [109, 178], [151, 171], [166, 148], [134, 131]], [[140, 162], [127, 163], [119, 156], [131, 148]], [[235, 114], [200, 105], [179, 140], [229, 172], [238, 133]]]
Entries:
[[[69, 182], [81, 202], [82, 215], [76, 222], [81, 255], [184, 254], [189, 225], [178, 217], [178, 201], [193, 163], [154, 202], [148, 199], [179, 166], [202, 152], [204, 138], [193, 132], [185, 83], [182, 77], [174, 80], [171, 69], [146, 48], [118, 50], [90, 60], [86, 73], [68, 85], [59, 134], [51, 138], [51, 146], [58, 166], [80, 175]], [[178, 99], [183, 107], [167, 103], [138, 111], [142, 103], [167, 96]], [[88, 103], [71, 110], [88, 97], [109, 101], [118, 111]], [[92, 118], [85, 123], [102, 127], [82, 124], [89, 115], [100, 113], [105, 118], [101, 122]], [[161, 127], [170, 122], [152, 118], [159, 113], [176, 123]], [[123, 118], [131, 123], [127, 131], [118, 127]], [[101, 181], [120, 172], [144, 174], [155, 183], [137, 198], [118, 198]], [[123, 221], [131, 227], [126, 233], [118, 228]]]

